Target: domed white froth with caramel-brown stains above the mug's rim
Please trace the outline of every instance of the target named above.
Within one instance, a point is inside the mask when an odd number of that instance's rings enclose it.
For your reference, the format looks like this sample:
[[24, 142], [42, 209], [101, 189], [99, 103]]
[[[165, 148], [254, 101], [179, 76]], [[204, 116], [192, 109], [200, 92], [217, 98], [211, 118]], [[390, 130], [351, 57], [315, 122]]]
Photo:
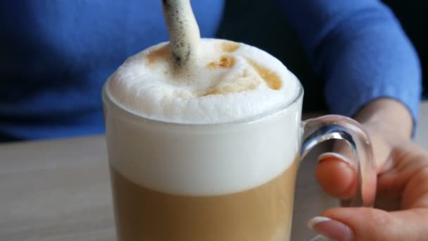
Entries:
[[167, 43], [128, 58], [107, 94], [145, 118], [212, 124], [254, 118], [296, 99], [296, 77], [277, 58], [246, 44], [201, 39], [198, 66], [177, 78]]

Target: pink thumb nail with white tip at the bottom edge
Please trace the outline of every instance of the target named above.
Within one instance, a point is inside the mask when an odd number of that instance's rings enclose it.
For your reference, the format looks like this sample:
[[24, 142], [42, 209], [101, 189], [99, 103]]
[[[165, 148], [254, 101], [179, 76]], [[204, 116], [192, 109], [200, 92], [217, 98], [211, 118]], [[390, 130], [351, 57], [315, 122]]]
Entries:
[[344, 223], [331, 218], [316, 216], [308, 221], [308, 227], [325, 237], [338, 241], [353, 241], [354, 235], [351, 228]]

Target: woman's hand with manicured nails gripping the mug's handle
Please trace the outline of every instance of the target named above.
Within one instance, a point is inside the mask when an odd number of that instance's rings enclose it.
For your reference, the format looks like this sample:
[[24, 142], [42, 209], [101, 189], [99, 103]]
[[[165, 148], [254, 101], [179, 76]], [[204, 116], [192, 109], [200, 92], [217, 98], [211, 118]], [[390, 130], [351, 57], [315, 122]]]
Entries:
[[[377, 168], [374, 208], [329, 209], [309, 221], [334, 240], [428, 240], [428, 152], [410, 139], [412, 119], [402, 104], [379, 99], [355, 116], [372, 140]], [[356, 176], [346, 148], [323, 154], [316, 176], [334, 197], [353, 196]]]

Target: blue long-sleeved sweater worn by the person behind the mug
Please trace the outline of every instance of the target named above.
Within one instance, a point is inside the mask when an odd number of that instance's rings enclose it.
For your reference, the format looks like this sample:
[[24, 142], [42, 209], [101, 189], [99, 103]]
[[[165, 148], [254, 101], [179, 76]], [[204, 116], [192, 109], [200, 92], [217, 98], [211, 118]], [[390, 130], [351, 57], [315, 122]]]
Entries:
[[[192, 1], [213, 37], [224, 2]], [[420, 66], [394, 15], [377, 0], [279, 0], [334, 113], [380, 97], [417, 115]], [[168, 35], [159, 0], [0, 1], [0, 135], [39, 139], [103, 132], [101, 87], [128, 56]]]

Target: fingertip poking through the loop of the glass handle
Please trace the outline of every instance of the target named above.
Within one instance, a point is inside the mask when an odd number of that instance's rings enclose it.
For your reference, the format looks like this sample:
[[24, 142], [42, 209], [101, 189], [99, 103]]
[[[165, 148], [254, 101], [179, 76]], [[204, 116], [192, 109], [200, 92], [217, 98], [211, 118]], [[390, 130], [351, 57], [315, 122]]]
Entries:
[[352, 163], [334, 153], [322, 154], [318, 159], [315, 177], [325, 192], [339, 199], [353, 197], [357, 176]]

